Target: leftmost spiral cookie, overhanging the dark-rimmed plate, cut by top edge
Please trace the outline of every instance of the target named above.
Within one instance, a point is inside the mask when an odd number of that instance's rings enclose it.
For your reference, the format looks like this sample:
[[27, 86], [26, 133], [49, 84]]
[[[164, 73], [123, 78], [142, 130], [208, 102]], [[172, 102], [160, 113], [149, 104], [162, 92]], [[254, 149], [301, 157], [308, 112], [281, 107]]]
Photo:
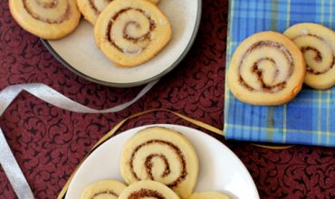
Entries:
[[59, 39], [72, 33], [81, 13], [74, 0], [9, 0], [15, 21], [43, 39]]

